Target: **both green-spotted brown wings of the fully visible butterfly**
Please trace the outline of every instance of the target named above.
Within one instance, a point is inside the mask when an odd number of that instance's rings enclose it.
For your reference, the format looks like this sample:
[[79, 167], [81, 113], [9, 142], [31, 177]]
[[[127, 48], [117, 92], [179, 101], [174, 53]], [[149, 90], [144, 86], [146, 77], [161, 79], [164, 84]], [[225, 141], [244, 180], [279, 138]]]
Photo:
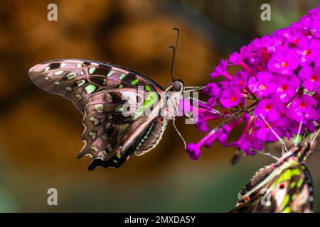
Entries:
[[[142, 155], [161, 140], [166, 118], [156, 113], [163, 104], [164, 89], [137, 72], [102, 62], [65, 59], [32, 67], [29, 77], [46, 92], [72, 101], [83, 114], [85, 146], [78, 157], [92, 157], [89, 170], [119, 167], [130, 155]], [[124, 105], [132, 99], [137, 101]], [[152, 109], [155, 114], [144, 116], [142, 111], [151, 104], [156, 106]]]

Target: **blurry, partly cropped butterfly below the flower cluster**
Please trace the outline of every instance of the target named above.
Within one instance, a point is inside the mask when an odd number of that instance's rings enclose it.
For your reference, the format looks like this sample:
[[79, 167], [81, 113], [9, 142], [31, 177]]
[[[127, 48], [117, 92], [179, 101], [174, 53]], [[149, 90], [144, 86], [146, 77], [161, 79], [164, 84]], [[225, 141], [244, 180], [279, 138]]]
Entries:
[[274, 164], [258, 170], [239, 192], [230, 213], [313, 212], [314, 189], [304, 162], [314, 148], [314, 143], [299, 143]]

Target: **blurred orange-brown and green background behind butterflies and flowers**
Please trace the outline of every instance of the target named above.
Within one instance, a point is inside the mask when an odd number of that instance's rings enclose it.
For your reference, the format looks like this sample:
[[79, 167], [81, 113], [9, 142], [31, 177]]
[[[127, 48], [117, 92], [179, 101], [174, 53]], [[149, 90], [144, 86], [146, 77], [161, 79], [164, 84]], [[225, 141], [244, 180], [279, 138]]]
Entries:
[[[47, 6], [58, 6], [58, 21]], [[260, 20], [261, 4], [271, 21]], [[235, 149], [203, 149], [193, 161], [171, 123], [156, 149], [132, 157], [117, 170], [87, 170], [78, 160], [82, 116], [60, 96], [38, 89], [28, 69], [39, 62], [77, 57], [110, 62], [165, 85], [171, 50], [181, 29], [175, 74], [187, 86], [210, 82], [221, 58], [255, 37], [297, 21], [320, 1], [1, 1], [0, 8], [0, 211], [2, 212], [226, 212], [239, 190], [269, 157], [245, 157], [230, 165]], [[203, 136], [178, 119], [188, 142]], [[307, 165], [320, 211], [319, 152]], [[48, 206], [48, 188], [58, 206]]]

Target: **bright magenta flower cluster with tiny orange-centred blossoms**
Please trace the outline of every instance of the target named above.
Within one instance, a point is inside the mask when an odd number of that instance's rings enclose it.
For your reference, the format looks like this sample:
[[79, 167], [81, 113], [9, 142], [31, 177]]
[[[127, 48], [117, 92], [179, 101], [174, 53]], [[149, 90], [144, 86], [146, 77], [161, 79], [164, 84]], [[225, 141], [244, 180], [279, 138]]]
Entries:
[[[230, 65], [241, 70], [231, 75]], [[191, 159], [198, 159], [201, 147], [215, 140], [252, 155], [265, 142], [314, 132], [320, 123], [320, 6], [288, 28], [255, 38], [221, 60], [210, 75], [220, 80], [206, 85], [208, 104], [201, 105], [196, 123], [208, 134], [196, 144], [188, 143]], [[222, 123], [210, 130], [208, 122], [217, 119]], [[245, 124], [242, 135], [228, 141], [240, 123]]]

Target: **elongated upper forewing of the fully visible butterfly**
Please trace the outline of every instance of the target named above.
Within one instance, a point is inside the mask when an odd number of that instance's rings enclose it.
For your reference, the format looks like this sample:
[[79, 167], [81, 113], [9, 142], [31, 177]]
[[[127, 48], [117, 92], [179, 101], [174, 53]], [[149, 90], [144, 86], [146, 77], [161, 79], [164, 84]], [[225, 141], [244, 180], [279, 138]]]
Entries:
[[51, 60], [32, 67], [29, 77], [41, 89], [60, 94], [83, 113], [92, 94], [101, 89], [144, 87], [161, 92], [158, 84], [137, 72], [102, 62], [87, 60]]

